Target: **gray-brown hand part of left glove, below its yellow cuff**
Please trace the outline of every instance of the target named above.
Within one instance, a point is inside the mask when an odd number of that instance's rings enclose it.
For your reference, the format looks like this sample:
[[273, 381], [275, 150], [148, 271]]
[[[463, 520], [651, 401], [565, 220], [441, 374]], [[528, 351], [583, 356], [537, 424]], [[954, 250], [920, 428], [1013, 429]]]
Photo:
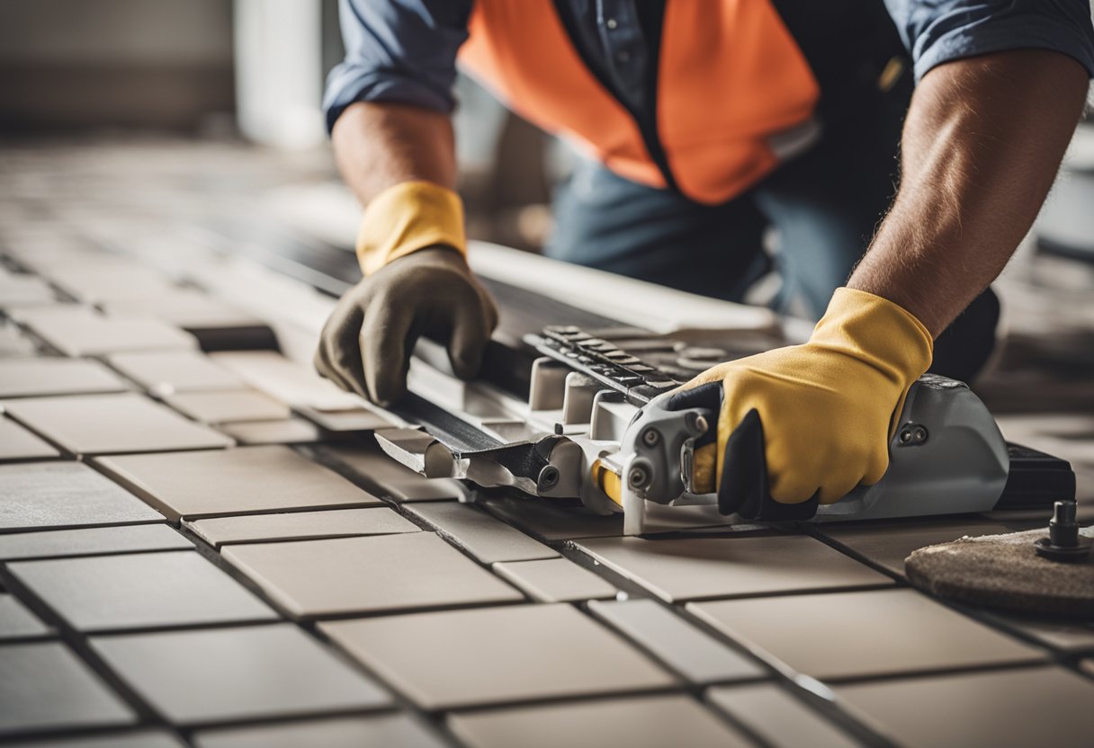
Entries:
[[419, 336], [447, 340], [453, 371], [469, 379], [497, 324], [498, 307], [458, 252], [419, 249], [342, 295], [323, 326], [315, 369], [342, 389], [392, 405], [406, 393]]

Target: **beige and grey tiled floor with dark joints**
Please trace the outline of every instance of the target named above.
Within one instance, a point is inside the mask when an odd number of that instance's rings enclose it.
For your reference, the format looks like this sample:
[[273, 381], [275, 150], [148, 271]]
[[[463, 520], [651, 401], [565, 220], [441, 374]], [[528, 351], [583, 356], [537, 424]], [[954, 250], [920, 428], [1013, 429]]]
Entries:
[[[689, 507], [655, 512], [656, 537], [638, 539], [618, 517], [461, 504], [461, 483], [353, 433], [392, 423], [311, 372], [312, 338], [279, 340], [292, 359], [244, 350], [292, 289], [235, 308], [218, 279], [187, 274], [208, 249], [150, 218], [166, 197], [218, 207], [163, 179], [149, 190], [150, 164], [247, 185], [299, 164], [184, 152], [0, 150], [0, 741], [1090, 743], [1094, 622], [967, 615], [903, 578], [915, 548], [1026, 518], [757, 534]], [[80, 168], [60, 179], [50, 159], [66, 157]], [[1067, 398], [1089, 397], [1094, 362], [1055, 386], [1060, 348], [1017, 313], [1048, 294], [1024, 288], [1009, 287], [1006, 375], [985, 391], [1004, 431], [1074, 460], [1090, 513], [1094, 429]], [[1052, 293], [1089, 335], [1083, 296]], [[296, 299], [322, 322], [327, 300]]]

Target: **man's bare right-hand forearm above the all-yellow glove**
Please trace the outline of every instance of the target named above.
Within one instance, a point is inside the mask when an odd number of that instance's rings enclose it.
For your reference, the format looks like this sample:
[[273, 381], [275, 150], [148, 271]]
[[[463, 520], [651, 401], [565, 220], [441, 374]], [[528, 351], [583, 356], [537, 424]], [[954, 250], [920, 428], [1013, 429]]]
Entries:
[[905, 122], [900, 189], [848, 285], [896, 302], [938, 336], [1028, 232], [1086, 91], [1079, 62], [1043, 50], [924, 75]]

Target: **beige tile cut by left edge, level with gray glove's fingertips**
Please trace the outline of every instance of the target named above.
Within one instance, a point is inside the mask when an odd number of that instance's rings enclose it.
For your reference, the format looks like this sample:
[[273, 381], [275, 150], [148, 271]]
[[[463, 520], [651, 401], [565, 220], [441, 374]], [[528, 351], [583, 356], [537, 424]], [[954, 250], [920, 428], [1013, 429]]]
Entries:
[[129, 389], [97, 361], [38, 358], [0, 361], [0, 397], [121, 393]]

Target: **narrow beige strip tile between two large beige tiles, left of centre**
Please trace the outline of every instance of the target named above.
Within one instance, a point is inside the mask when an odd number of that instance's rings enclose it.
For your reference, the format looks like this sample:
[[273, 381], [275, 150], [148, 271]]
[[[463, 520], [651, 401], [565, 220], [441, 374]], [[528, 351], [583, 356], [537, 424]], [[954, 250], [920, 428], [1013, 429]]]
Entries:
[[[236, 542], [349, 538], [421, 530], [418, 525], [383, 506], [210, 517], [187, 522], [185, 525], [217, 548]], [[2, 542], [3, 538], [0, 537], [0, 544]]]

